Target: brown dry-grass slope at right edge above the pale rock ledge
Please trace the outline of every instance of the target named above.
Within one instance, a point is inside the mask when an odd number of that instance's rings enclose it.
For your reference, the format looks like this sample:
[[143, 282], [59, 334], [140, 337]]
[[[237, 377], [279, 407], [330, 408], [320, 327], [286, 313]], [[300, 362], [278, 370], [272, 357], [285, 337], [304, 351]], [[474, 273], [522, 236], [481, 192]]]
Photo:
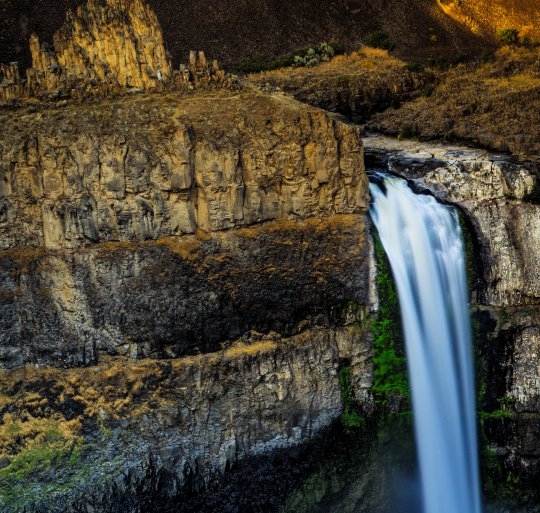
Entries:
[[429, 97], [376, 115], [370, 128], [538, 159], [538, 52], [505, 47], [486, 62], [456, 66]]

